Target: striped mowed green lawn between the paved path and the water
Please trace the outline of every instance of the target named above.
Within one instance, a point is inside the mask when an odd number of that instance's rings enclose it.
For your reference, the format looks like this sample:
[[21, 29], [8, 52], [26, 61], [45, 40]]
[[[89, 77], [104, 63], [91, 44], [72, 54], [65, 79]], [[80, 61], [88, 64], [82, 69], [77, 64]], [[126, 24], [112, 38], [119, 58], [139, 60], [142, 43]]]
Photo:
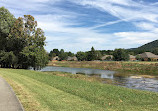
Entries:
[[0, 69], [0, 76], [26, 111], [158, 111], [154, 92], [20, 69]]

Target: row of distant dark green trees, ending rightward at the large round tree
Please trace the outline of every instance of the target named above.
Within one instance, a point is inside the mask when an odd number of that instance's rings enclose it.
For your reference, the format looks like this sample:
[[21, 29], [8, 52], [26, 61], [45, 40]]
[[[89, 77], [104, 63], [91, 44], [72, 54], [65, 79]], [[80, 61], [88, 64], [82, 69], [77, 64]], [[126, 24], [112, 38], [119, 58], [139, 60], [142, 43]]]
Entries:
[[104, 55], [112, 55], [105, 58], [105, 60], [115, 60], [115, 61], [127, 61], [129, 60], [129, 53], [125, 49], [115, 49], [115, 50], [95, 50], [94, 47], [90, 51], [79, 51], [76, 54], [72, 52], [64, 52], [64, 49], [60, 51], [58, 49], [53, 49], [49, 53], [49, 59], [58, 56], [60, 60], [67, 60], [68, 56], [76, 56], [78, 61], [94, 61], [101, 60]]

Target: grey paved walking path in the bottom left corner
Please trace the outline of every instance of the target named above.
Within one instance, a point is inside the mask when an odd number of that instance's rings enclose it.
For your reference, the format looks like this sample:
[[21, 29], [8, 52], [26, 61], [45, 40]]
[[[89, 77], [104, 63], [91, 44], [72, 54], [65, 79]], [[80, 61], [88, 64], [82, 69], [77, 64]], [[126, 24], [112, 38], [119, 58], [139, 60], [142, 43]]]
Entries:
[[1, 77], [0, 111], [24, 111], [10, 85]]

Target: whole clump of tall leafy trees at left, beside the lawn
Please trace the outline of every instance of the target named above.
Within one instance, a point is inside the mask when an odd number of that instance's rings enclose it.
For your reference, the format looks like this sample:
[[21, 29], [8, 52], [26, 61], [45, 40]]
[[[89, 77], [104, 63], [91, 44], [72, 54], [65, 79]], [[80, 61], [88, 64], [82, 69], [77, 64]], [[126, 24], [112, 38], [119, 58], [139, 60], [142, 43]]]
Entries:
[[48, 63], [45, 39], [33, 16], [16, 19], [6, 8], [0, 8], [0, 67], [44, 67]]

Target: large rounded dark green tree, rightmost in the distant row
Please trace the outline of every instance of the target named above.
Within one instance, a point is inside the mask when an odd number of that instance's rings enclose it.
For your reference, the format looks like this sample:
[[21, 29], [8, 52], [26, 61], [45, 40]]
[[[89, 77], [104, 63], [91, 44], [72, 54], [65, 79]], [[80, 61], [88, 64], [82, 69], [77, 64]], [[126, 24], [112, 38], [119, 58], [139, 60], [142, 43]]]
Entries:
[[113, 59], [115, 61], [127, 61], [129, 60], [129, 55], [125, 49], [115, 49], [113, 53]]

